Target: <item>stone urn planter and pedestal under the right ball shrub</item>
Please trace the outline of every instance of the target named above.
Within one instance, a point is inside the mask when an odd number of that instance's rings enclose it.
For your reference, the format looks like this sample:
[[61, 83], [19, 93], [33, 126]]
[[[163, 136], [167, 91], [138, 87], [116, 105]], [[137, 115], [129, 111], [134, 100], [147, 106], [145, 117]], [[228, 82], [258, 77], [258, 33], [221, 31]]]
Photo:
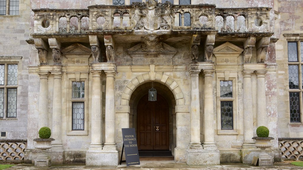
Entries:
[[272, 166], [272, 157], [265, 152], [266, 148], [271, 147], [270, 140], [275, 139], [272, 137], [253, 137], [256, 140], [255, 146], [261, 148], [261, 153], [254, 156], [252, 165], [255, 166]]

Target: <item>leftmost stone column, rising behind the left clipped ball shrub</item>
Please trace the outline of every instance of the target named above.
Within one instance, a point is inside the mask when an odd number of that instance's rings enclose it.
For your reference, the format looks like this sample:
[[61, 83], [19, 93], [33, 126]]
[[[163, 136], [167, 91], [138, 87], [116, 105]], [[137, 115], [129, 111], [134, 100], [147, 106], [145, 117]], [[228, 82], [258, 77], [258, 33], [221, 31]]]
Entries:
[[48, 72], [38, 73], [40, 76], [39, 90], [39, 129], [48, 127]]

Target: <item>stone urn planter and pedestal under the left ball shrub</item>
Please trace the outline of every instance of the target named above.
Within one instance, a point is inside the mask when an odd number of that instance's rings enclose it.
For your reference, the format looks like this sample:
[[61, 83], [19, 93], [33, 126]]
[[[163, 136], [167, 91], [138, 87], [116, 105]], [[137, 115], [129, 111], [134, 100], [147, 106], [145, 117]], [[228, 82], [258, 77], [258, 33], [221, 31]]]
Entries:
[[35, 148], [42, 150], [41, 155], [38, 156], [37, 159], [35, 159], [35, 168], [48, 168], [52, 165], [51, 158], [48, 155], [46, 155], [45, 151], [46, 151], [46, 149], [52, 148], [51, 142], [54, 140], [55, 139], [53, 139], [53, 138], [33, 139], [34, 142], [37, 142]]

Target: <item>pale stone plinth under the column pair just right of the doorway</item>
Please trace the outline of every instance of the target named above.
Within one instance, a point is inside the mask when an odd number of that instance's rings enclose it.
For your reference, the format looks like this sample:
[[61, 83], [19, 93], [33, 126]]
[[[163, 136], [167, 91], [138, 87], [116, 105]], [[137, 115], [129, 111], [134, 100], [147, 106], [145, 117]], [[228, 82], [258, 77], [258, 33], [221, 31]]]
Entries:
[[188, 148], [187, 165], [220, 165], [220, 151], [217, 149]]

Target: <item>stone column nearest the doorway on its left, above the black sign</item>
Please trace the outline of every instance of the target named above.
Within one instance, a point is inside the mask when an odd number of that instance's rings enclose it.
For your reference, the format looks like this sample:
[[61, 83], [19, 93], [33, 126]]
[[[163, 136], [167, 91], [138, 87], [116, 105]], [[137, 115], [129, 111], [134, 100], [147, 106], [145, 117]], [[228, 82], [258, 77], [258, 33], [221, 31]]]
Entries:
[[116, 149], [115, 143], [115, 72], [105, 71], [105, 143], [103, 149]]

